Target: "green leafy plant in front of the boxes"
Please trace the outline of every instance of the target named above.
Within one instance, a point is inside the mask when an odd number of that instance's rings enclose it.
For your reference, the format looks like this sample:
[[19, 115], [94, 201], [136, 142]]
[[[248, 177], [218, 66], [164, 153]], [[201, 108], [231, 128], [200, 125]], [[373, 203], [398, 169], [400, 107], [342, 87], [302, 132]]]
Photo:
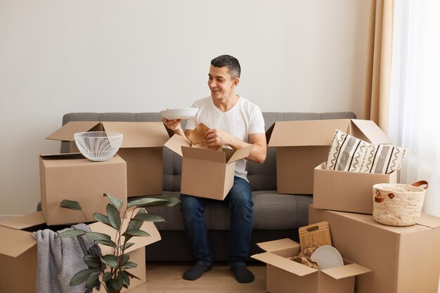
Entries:
[[[121, 220], [121, 211], [123, 203], [112, 195], [104, 193], [104, 196], [108, 198], [109, 203], [106, 207], [106, 214], [93, 214], [93, 219], [104, 223], [115, 229], [115, 241], [112, 240], [110, 235], [104, 233], [88, 232], [84, 230], [67, 230], [65, 232], [57, 233], [58, 237], [77, 237], [86, 235], [95, 240], [100, 245], [111, 247], [112, 253], [103, 256], [96, 256], [87, 254], [84, 256], [84, 261], [89, 268], [76, 273], [70, 285], [79, 285], [86, 282], [87, 289], [99, 290], [103, 285], [108, 293], [119, 293], [122, 288], [128, 288], [131, 278], [137, 278], [127, 271], [129, 268], [135, 268], [136, 263], [129, 261], [129, 255], [126, 254], [126, 249], [134, 245], [133, 242], [129, 242], [132, 237], [146, 237], [148, 233], [141, 230], [141, 226], [144, 221], [159, 222], [164, 221], [161, 216], [155, 214], [148, 214], [145, 207], [152, 206], [166, 206], [172, 207], [180, 202], [177, 197], [143, 197], [138, 200], [132, 200], [127, 203], [127, 207], [123, 211], [123, 219]], [[78, 202], [71, 200], [63, 200], [60, 203], [60, 207], [66, 209], [74, 209], [82, 211], [82, 207]], [[133, 213], [130, 219], [125, 219], [127, 211], [133, 209]], [[82, 211], [84, 214], [84, 212]], [[84, 214], [84, 218], [86, 218]], [[87, 222], [87, 219], [85, 219]], [[122, 230], [122, 221], [129, 221], [127, 229]]]

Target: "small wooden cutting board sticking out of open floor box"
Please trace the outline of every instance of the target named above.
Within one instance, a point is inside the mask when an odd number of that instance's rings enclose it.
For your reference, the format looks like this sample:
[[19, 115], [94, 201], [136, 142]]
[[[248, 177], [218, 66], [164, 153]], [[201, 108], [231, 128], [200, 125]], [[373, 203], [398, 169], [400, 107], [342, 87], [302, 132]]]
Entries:
[[328, 226], [327, 221], [300, 227], [298, 231], [301, 250], [313, 243], [317, 243], [318, 245], [332, 245], [330, 226]]

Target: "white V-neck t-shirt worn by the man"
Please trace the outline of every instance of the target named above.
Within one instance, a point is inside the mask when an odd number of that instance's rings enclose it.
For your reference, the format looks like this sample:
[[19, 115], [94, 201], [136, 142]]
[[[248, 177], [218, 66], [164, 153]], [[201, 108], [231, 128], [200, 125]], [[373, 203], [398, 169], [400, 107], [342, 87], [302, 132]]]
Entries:
[[[238, 102], [226, 112], [216, 108], [212, 97], [196, 100], [193, 108], [198, 108], [195, 117], [188, 119], [186, 129], [193, 130], [203, 123], [209, 129], [221, 129], [228, 134], [249, 143], [250, 134], [264, 134], [264, 118], [260, 108], [249, 100], [239, 97]], [[246, 178], [246, 159], [235, 162], [235, 176]]]

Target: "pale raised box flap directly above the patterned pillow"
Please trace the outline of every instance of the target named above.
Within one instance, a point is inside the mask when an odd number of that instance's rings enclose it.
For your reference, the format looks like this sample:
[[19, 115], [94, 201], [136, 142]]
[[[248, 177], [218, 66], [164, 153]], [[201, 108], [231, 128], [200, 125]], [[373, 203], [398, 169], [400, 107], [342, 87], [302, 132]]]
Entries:
[[347, 133], [369, 143], [392, 143], [387, 134], [385, 134], [384, 131], [382, 131], [382, 129], [371, 120], [351, 119], [351, 124]]

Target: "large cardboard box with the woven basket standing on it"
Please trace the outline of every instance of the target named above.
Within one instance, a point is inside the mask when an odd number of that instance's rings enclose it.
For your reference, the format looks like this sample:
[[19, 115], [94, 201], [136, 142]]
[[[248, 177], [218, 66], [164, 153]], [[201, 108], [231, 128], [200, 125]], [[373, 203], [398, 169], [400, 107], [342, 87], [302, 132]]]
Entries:
[[332, 245], [372, 273], [359, 275], [357, 293], [437, 293], [440, 219], [422, 214], [409, 227], [385, 226], [373, 216], [309, 208], [309, 223], [328, 221]]

